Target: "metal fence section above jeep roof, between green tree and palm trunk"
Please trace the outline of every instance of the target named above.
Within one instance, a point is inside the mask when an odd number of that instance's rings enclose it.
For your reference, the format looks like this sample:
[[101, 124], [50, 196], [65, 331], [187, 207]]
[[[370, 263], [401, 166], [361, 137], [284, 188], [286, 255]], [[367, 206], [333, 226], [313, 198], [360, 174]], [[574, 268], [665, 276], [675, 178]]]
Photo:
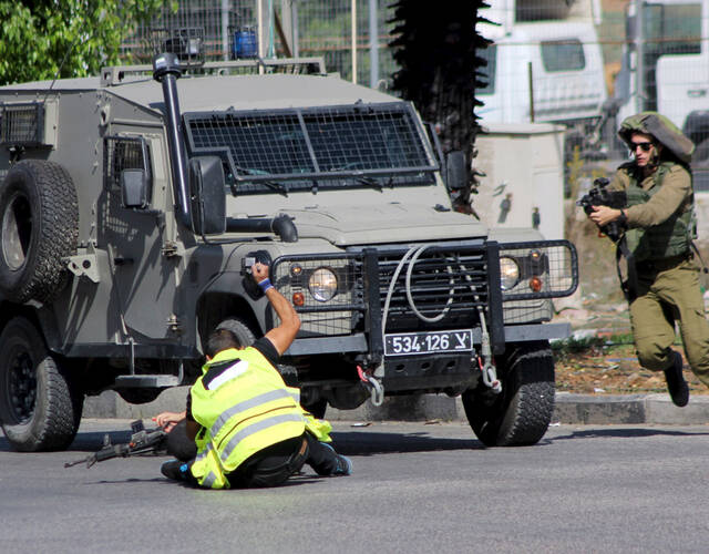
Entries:
[[[165, 41], [199, 33], [206, 60], [322, 57], [343, 79], [387, 89], [392, 9], [383, 0], [181, 0], [123, 43], [131, 62], [151, 60]], [[178, 31], [182, 30], [182, 31]], [[181, 37], [182, 33], [182, 37]], [[376, 41], [371, 37], [377, 37]], [[373, 63], [372, 63], [373, 60]]]

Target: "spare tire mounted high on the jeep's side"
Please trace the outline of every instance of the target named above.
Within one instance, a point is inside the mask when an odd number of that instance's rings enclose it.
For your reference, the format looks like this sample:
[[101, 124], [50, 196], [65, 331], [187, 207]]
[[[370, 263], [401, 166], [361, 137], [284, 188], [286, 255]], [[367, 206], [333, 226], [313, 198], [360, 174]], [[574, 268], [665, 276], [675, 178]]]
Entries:
[[71, 176], [43, 160], [14, 164], [0, 187], [0, 293], [16, 302], [51, 301], [76, 253], [79, 203]]

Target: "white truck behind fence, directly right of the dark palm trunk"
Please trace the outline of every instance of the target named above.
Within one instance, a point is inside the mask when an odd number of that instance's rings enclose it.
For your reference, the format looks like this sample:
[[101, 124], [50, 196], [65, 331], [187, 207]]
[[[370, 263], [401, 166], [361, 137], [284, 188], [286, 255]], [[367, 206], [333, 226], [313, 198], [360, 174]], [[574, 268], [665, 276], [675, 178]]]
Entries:
[[[588, 144], [607, 100], [595, 24], [597, 0], [490, 0], [477, 52], [486, 85], [477, 89], [482, 123], [559, 123], [567, 148]], [[593, 141], [592, 141], [593, 143]]]

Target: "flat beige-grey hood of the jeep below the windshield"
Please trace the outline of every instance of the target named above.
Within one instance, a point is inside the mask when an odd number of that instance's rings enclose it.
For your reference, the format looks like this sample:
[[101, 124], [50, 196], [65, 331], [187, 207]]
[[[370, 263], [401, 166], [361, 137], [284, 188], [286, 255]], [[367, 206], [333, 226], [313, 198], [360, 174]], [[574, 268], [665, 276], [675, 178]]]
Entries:
[[387, 203], [287, 209], [301, 238], [337, 246], [480, 237], [486, 227], [470, 215], [433, 206]]

